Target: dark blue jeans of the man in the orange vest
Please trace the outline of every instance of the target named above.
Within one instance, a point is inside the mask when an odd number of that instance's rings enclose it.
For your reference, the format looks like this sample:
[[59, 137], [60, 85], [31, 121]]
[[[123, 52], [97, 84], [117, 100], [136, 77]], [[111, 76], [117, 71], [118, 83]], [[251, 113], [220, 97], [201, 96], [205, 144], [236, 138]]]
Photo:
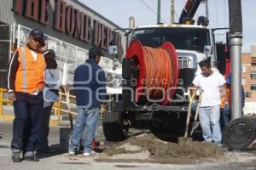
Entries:
[[15, 93], [12, 150], [34, 151], [41, 126], [43, 94]]

